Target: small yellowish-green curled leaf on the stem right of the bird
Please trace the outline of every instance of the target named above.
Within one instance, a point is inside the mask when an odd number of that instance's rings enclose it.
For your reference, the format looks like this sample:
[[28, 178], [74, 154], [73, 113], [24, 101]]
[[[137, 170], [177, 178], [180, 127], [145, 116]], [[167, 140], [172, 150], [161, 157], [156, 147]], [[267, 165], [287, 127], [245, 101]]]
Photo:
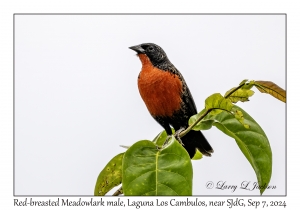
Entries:
[[210, 114], [218, 114], [225, 111], [231, 111], [233, 104], [229, 99], [224, 98], [220, 93], [215, 93], [205, 100], [205, 109], [213, 110]]

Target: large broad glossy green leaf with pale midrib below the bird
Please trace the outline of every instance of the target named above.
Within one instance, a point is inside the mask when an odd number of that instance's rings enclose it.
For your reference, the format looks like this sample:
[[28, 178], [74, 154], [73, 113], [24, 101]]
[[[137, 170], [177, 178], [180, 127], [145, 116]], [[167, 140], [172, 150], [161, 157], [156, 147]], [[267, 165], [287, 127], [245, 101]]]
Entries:
[[191, 195], [192, 178], [190, 157], [174, 136], [161, 150], [142, 140], [125, 152], [124, 195]]

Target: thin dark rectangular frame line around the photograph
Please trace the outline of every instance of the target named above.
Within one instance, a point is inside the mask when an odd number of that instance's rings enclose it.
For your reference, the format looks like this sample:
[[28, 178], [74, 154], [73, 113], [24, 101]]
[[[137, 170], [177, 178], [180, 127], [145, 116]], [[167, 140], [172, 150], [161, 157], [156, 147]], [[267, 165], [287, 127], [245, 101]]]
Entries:
[[[14, 197], [94, 197], [93, 195], [16, 195], [15, 193], [15, 16], [16, 15], [285, 15], [285, 89], [287, 92], [287, 13], [14, 13], [13, 14], [13, 196]], [[107, 195], [111, 196], [111, 195]], [[261, 195], [192, 195], [193, 197], [260, 197]], [[285, 104], [285, 195], [287, 196], [287, 103]]]

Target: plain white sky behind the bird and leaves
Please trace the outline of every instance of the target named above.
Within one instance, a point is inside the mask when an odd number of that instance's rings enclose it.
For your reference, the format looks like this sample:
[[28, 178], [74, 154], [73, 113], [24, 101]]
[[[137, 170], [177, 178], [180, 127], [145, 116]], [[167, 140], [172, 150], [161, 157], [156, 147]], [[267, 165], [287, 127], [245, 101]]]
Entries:
[[[160, 45], [183, 74], [198, 110], [243, 79], [286, 89], [284, 15], [17, 15], [15, 17], [15, 194], [93, 195], [99, 172], [162, 127], [137, 88], [132, 45]], [[273, 174], [264, 195], [285, 194], [285, 104], [258, 90], [238, 103], [264, 129]], [[203, 132], [215, 153], [193, 161], [194, 195], [259, 195], [206, 189], [240, 186], [255, 173], [234, 139]], [[111, 192], [110, 194], [112, 194]]]

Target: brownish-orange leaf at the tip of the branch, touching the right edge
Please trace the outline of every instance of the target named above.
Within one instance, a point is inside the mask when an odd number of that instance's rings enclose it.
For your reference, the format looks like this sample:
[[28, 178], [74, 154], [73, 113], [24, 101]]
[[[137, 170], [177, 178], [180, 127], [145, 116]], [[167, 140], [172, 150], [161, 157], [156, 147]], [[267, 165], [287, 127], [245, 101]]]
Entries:
[[268, 93], [280, 101], [286, 102], [286, 91], [270, 81], [255, 81], [256, 88], [262, 93]]

